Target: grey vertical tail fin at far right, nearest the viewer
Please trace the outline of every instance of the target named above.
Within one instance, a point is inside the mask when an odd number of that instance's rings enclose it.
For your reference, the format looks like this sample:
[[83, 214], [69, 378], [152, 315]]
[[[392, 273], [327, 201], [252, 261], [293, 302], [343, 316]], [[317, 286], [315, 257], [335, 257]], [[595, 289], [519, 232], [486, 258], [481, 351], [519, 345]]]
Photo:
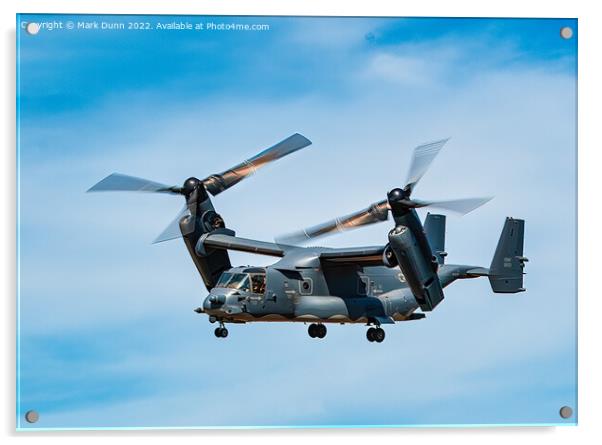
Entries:
[[523, 256], [525, 221], [506, 218], [491, 266], [489, 283], [495, 293], [524, 292], [523, 268], [527, 258]]

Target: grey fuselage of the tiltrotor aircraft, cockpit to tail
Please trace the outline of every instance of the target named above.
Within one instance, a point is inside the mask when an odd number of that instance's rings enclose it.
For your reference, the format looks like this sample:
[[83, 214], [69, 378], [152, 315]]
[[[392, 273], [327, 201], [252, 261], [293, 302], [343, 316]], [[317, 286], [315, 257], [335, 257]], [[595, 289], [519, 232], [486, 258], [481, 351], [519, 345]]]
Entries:
[[[422, 318], [419, 304], [398, 268], [327, 266], [326, 248], [299, 248], [266, 267], [225, 271], [202, 311], [229, 322], [299, 321], [392, 323]], [[442, 265], [442, 285], [466, 277], [471, 266]]]

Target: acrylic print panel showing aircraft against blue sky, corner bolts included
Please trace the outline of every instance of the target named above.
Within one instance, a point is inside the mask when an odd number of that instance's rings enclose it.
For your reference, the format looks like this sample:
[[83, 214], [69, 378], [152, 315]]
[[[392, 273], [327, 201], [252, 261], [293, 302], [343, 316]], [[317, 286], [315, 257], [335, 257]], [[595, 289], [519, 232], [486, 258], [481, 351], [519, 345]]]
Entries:
[[576, 424], [576, 20], [17, 42], [19, 429]]

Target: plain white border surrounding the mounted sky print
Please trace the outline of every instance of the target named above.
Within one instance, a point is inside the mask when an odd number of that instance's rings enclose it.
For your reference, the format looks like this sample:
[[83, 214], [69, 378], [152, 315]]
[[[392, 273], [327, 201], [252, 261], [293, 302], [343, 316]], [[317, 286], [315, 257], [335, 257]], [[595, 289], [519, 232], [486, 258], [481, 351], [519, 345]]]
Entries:
[[[310, 4], [307, 1], [203, 1], [170, 0], [5, 0], [2, 2], [3, 69], [2, 69], [2, 246], [0, 283], [3, 283], [4, 308], [1, 343], [3, 352], [2, 381], [4, 384], [1, 405], [2, 432], [9, 440], [28, 443], [43, 440], [45, 443], [101, 442], [111, 438], [116, 443], [144, 440], [162, 443], [168, 437], [197, 443], [203, 440], [246, 443], [277, 443], [286, 440], [301, 443], [308, 440], [344, 440], [346, 443], [365, 444], [367, 441], [411, 441], [436, 443], [441, 441], [462, 444], [506, 444], [508, 441], [555, 444], [582, 443], [602, 437], [602, 414], [598, 397], [602, 369], [600, 363], [601, 297], [597, 280], [597, 260], [600, 257], [599, 193], [602, 190], [597, 166], [600, 163], [602, 144], [600, 127], [600, 43], [602, 23], [596, 14], [595, 2], [559, 2], [505, 0], [504, 2], [478, 2], [455, 0], [391, 2], [370, 0], [365, 2], [323, 0]], [[503, 16], [503, 17], [577, 17], [579, 18], [579, 426], [578, 427], [503, 427], [503, 428], [449, 428], [449, 429], [346, 429], [346, 430], [251, 430], [251, 431], [112, 431], [112, 432], [38, 432], [15, 433], [15, 13], [137, 13], [137, 14], [239, 14], [239, 15], [392, 15], [392, 16]], [[558, 209], [557, 211], [562, 211]], [[561, 230], [561, 228], [559, 228]], [[402, 353], [403, 351], [400, 351]], [[418, 384], [418, 383], [417, 383]], [[18, 437], [17, 437], [18, 436]]]

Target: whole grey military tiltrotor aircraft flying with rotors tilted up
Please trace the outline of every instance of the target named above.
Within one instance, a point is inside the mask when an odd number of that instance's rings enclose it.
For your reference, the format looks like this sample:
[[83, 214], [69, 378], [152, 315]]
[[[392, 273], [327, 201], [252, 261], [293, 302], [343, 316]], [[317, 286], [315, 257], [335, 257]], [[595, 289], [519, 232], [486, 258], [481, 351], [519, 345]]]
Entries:
[[[489, 268], [445, 264], [445, 216], [417, 208], [435, 207], [465, 214], [491, 198], [423, 201], [412, 197], [447, 139], [414, 150], [405, 186], [386, 199], [342, 218], [277, 239], [275, 243], [237, 237], [216, 213], [209, 195], [229, 189], [265, 164], [311, 142], [294, 134], [220, 174], [188, 178], [168, 186], [114, 173], [89, 191], [139, 191], [182, 195], [186, 206], [155, 242], [183, 237], [209, 295], [195, 309], [218, 322], [216, 337], [227, 337], [226, 323], [305, 322], [309, 336], [324, 338], [327, 323], [364, 323], [370, 342], [382, 342], [382, 325], [418, 320], [443, 300], [443, 288], [458, 279], [488, 277], [495, 293], [522, 292], [524, 221], [506, 218]], [[334, 232], [388, 220], [394, 227], [386, 244], [333, 249], [301, 247]], [[229, 250], [279, 258], [266, 267], [232, 267]], [[416, 312], [418, 309], [421, 312]]]

